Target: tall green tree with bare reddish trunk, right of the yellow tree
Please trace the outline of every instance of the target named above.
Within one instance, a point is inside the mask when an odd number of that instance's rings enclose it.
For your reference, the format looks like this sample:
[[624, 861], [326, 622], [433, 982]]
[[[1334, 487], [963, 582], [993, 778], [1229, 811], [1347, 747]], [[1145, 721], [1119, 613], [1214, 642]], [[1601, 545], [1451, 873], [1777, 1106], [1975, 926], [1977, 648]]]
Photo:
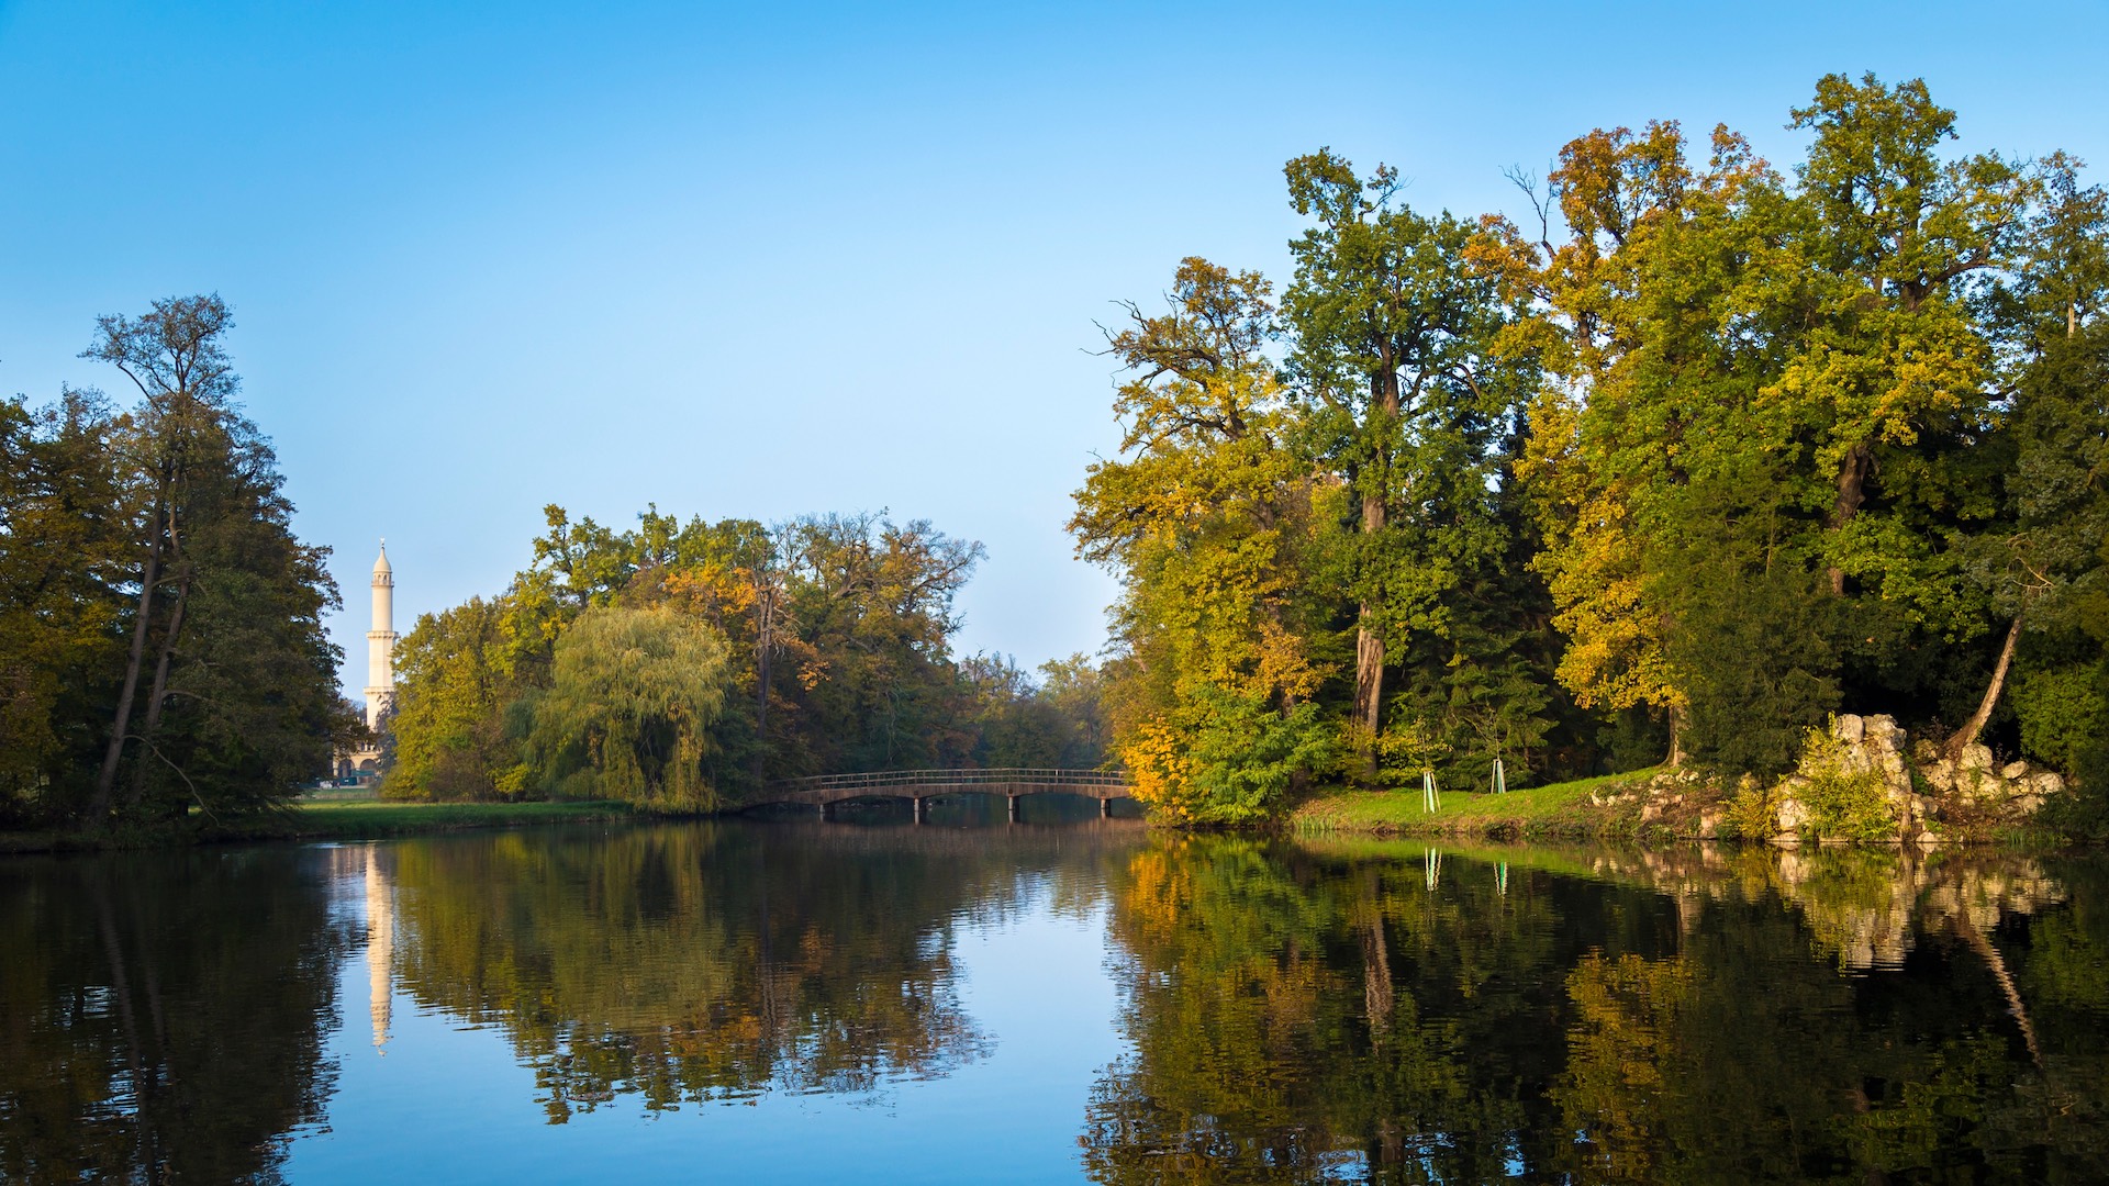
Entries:
[[1451, 597], [1506, 551], [1495, 490], [1531, 369], [1493, 352], [1510, 321], [1468, 260], [1472, 228], [1396, 200], [1320, 150], [1286, 165], [1289, 200], [1316, 226], [1291, 243], [1289, 374], [1308, 433], [1358, 502], [1354, 705], [1375, 774], [1384, 669], [1411, 635], [1445, 635]]

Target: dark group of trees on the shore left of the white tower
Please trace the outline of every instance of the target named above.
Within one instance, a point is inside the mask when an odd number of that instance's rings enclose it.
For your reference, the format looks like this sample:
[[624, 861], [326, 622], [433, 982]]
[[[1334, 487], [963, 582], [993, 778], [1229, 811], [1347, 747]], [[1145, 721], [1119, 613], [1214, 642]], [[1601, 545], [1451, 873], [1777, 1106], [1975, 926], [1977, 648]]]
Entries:
[[82, 357], [131, 407], [0, 401], [0, 827], [283, 802], [359, 728], [228, 327], [217, 295], [103, 317]]

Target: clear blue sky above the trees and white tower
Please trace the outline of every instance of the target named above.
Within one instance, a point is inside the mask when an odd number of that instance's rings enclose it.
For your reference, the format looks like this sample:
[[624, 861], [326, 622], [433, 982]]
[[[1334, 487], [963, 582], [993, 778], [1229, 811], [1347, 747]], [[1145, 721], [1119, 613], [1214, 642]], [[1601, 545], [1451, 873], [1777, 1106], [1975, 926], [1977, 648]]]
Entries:
[[[0, 390], [122, 395], [101, 312], [219, 291], [365, 680], [542, 506], [879, 511], [983, 540], [966, 650], [1097, 650], [1063, 519], [1118, 433], [1095, 321], [1181, 255], [1286, 279], [1289, 156], [1512, 209], [1592, 127], [1799, 154], [1831, 70], [1959, 148], [2109, 165], [2109, 6], [0, 2]], [[2098, 175], [2098, 173], [2096, 173]]]

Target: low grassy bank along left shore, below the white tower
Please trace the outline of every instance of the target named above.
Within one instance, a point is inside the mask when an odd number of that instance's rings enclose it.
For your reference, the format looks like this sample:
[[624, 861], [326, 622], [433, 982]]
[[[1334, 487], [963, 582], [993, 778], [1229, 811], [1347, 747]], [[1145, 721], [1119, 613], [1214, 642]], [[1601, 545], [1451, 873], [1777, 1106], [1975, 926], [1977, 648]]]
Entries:
[[224, 823], [194, 815], [190, 827], [169, 831], [122, 831], [114, 836], [89, 836], [84, 831], [0, 831], [0, 855], [165, 848], [245, 840], [390, 840], [396, 836], [468, 831], [477, 827], [593, 823], [635, 817], [637, 810], [628, 804], [599, 800], [496, 804], [299, 802], [287, 810]]

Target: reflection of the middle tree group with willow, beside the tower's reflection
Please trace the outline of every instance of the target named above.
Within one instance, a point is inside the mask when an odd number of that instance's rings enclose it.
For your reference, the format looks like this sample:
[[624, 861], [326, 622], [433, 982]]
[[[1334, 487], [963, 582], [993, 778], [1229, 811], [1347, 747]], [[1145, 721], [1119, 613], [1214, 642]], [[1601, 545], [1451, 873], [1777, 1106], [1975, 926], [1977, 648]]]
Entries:
[[[766, 1091], [873, 1093], [991, 1049], [960, 1007], [953, 935], [1050, 888], [1103, 891], [1099, 831], [799, 825], [508, 834], [382, 846], [394, 975], [420, 1005], [500, 1028], [550, 1123]], [[1033, 836], [1040, 836], [1036, 842]], [[1054, 857], [1069, 853], [1065, 859]]]

